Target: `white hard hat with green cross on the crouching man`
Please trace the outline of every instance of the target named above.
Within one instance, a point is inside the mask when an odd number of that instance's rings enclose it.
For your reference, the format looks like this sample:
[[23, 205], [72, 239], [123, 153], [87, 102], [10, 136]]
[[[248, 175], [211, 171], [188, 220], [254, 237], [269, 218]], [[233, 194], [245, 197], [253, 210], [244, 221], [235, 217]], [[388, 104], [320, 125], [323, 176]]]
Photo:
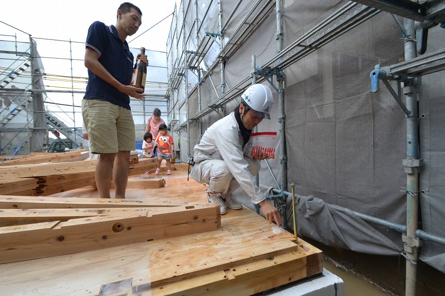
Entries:
[[255, 116], [270, 119], [273, 97], [270, 89], [263, 84], [249, 86], [241, 95], [242, 103], [247, 105]]

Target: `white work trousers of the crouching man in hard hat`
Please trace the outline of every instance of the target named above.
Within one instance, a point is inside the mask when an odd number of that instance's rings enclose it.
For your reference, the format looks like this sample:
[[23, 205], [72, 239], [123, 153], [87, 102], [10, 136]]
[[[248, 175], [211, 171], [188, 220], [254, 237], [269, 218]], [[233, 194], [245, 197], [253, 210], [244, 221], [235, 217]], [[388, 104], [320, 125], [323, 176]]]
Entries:
[[[249, 172], [252, 176], [256, 176], [261, 168], [260, 161], [250, 157], [244, 159], [248, 163]], [[195, 164], [190, 176], [196, 182], [208, 184], [210, 190], [220, 193], [221, 196], [232, 193], [240, 186], [225, 162], [219, 159], [204, 160]]]

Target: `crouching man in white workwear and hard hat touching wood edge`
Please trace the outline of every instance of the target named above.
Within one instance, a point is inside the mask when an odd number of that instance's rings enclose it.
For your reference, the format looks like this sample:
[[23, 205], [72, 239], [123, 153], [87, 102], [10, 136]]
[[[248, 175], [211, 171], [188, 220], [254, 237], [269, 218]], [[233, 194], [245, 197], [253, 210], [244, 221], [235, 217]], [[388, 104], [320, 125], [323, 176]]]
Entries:
[[241, 103], [233, 112], [212, 124], [194, 148], [194, 166], [190, 176], [199, 183], [209, 185], [209, 202], [220, 205], [221, 214], [226, 208], [242, 209], [232, 192], [241, 186], [259, 204], [266, 219], [281, 226], [278, 210], [261, 193], [255, 184], [260, 171], [260, 160], [265, 155], [251, 156], [252, 144], [248, 143], [252, 129], [263, 118], [270, 119], [273, 105], [270, 89], [263, 84], [251, 85], [242, 95]]

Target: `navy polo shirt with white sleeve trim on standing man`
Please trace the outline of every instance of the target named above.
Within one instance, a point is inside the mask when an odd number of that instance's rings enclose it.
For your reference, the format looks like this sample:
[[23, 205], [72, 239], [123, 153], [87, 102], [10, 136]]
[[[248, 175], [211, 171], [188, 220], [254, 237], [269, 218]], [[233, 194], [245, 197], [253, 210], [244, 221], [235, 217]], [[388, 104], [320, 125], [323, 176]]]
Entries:
[[[116, 80], [130, 85], [133, 54], [127, 41], [122, 42], [113, 25], [94, 22], [89, 26], [86, 46], [100, 54], [99, 62]], [[130, 109], [130, 97], [88, 70], [88, 84], [84, 99], [101, 99]]]

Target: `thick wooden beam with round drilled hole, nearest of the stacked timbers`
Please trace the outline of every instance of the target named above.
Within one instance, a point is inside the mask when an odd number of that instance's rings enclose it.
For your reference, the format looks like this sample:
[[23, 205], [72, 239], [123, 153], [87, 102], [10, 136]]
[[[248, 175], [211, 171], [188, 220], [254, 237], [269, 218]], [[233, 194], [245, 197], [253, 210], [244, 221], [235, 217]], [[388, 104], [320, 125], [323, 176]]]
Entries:
[[216, 230], [214, 204], [0, 227], [0, 263], [38, 259]]

